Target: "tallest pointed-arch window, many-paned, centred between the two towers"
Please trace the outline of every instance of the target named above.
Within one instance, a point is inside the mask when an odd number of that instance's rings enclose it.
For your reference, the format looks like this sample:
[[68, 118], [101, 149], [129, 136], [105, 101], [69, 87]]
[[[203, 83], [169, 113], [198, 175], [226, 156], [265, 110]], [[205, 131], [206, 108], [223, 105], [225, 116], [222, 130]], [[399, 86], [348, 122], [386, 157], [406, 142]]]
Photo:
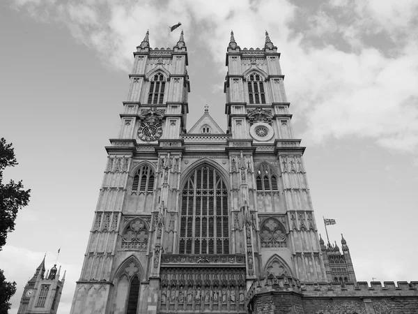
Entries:
[[183, 187], [179, 253], [229, 253], [228, 190], [207, 165], [194, 170]]

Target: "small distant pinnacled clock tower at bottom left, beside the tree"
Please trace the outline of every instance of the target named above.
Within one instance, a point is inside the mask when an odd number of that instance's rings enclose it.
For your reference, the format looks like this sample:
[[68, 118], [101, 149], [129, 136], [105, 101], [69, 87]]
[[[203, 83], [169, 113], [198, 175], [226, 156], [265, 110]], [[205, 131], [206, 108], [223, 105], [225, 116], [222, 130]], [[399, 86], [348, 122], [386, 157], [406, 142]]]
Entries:
[[[65, 282], [64, 276], [59, 280], [61, 267], [56, 264], [45, 274], [45, 257], [35, 271], [33, 277], [24, 287], [20, 307], [17, 314], [54, 314], [58, 310], [59, 300]], [[44, 276], [45, 275], [45, 276]]]

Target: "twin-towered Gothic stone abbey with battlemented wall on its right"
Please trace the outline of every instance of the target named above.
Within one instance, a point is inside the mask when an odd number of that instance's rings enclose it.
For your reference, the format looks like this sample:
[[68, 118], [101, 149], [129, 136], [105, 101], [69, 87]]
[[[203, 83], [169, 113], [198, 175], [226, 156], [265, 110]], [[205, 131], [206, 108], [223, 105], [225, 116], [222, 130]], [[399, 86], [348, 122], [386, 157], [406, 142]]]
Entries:
[[417, 283], [357, 282], [346, 240], [340, 252], [320, 239], [265, 35], [247, 50], [231, 33], [224, 132], [208, 107], [186, 128], [183, 31], [172, 49], [151, 49], [147, 32], [71, 313], [417, 313]]

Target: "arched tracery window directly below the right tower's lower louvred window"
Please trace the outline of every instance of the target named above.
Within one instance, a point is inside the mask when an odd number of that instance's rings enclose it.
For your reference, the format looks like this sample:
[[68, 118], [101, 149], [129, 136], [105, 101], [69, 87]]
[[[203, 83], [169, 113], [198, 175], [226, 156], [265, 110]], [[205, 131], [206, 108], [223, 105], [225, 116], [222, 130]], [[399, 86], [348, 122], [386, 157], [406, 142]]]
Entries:
[[286, 248], [286, 230], [275, 218], [268, 218], [263, 222], [260, 238], [263, 248]]

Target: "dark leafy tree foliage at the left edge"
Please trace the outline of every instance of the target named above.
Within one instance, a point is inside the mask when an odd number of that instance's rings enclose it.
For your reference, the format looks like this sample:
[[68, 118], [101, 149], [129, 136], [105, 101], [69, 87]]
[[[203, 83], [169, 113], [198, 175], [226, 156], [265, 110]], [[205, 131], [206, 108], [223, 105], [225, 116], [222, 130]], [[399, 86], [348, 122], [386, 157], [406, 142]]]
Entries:
[[[17, 165], [12, 143], [7, 144], [0, 139], [0, 251], [6, 244], [8, 232], [15, 230], [17, 211], [29, 203], [31, 190], [24, 190], [22, 181], [15, 183], [10, 180], [3, 184], [3, 170]], [[11, 304], [10, 297], [16, 292], [16, 283], [9, 283], [0, 269], [0, 314], [7, 314]]]

